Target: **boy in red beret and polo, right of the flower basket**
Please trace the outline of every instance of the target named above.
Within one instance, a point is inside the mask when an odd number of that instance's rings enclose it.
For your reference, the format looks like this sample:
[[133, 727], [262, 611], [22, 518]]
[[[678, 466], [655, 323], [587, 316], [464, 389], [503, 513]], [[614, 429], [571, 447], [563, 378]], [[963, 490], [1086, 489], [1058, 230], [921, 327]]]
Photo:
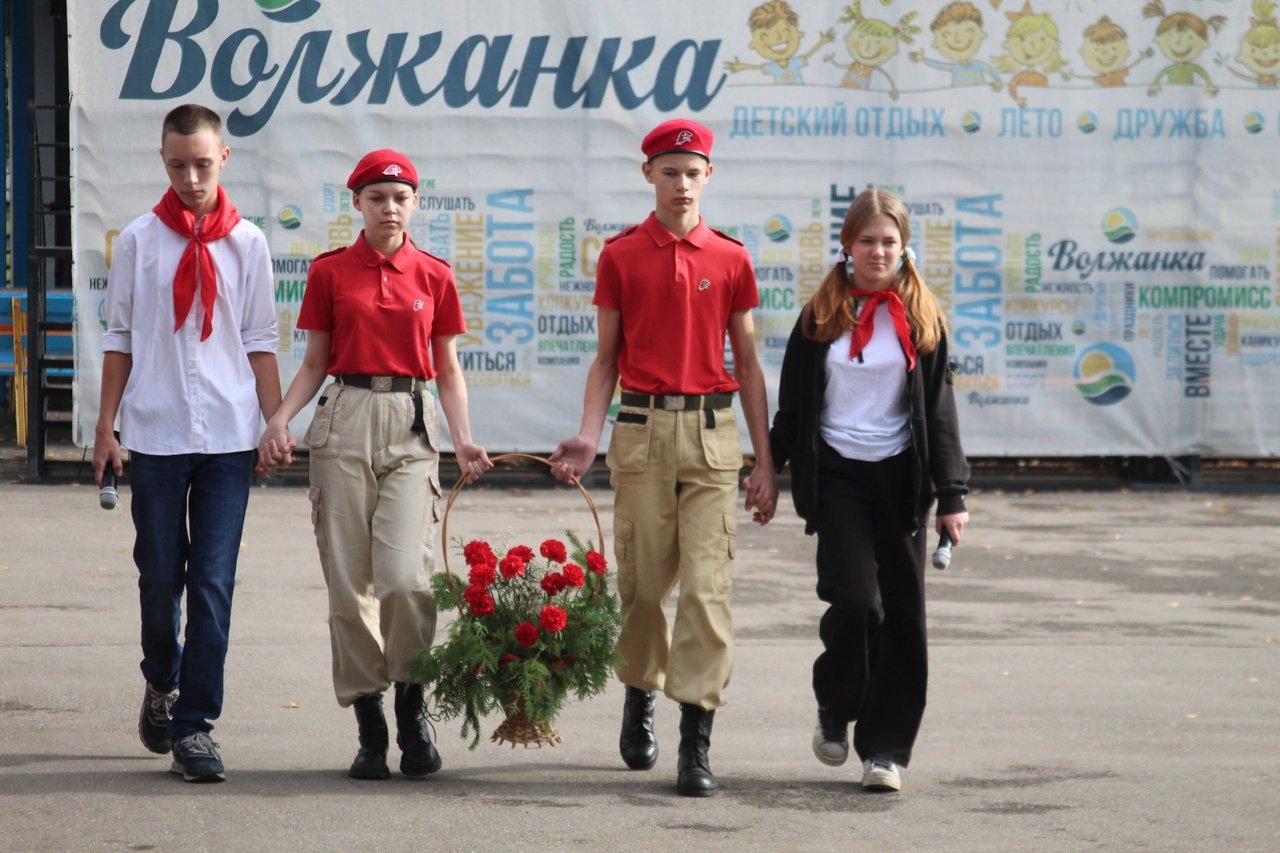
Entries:
[[[768, 524], [777, 502], [764, 377], [750, 309], [759, 305], [751, 257], [699, 214], [712, 177], [712, 132], [687, 119], [641, 142], [654, 187], [649, 218], [600, 252], [595, 298], [599, 348], [588, 371], [582, 421], [552, 455], [562, 480], [595, 461], [618, 378], [607, 461], [616, 496], [614, 556], [626, 624], [618, 638], [626, 684], [618, 747], [632, 770], [658, 760], [654, 693], [680, 703], [677, 790], [716, 793], [708, 762], [712, 720], [733, 665], [730, 613], [737, 475], [742, 447], [732, 396], [755, 452], [746, 508]], [[724, 368], [724, 336], [733, 373]], [[668, 634], [663, 603], [680, 585]]]

